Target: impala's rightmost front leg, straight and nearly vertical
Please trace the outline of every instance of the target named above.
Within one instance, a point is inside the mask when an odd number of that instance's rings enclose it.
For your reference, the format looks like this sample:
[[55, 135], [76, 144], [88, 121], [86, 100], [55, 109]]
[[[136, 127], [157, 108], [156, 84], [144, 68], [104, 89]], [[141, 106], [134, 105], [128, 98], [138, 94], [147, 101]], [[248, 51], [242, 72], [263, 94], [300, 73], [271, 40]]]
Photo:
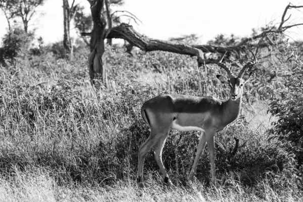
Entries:
[[206, 142], [210, 155], [210, 163], [211, 163], [211, 175], [212, 182], [215, 183], [216, 179], [216, 166], [215, 166], [215, 132], [216, 130], [206, 130]]

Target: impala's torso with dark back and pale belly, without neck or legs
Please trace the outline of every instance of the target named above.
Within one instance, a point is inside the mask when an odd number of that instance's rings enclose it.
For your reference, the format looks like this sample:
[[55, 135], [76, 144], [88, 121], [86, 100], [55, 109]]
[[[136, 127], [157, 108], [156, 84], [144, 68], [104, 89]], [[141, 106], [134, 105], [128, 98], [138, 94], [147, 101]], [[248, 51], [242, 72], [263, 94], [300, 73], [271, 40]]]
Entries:
[[149, 126], [203, 131], [205, 124], [220, 121], [221, 106], [222, 101], [212, 96], [159, 95], [143, 104], [141, 115]]

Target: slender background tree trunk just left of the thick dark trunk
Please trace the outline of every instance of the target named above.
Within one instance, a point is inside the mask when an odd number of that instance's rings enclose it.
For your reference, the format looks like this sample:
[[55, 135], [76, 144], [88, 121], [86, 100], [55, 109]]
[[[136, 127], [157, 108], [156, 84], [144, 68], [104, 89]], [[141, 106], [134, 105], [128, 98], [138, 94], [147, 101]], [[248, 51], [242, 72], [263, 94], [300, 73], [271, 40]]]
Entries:
[[72, 53], [72, 43], [70, 37], [70, 8], [68, 0], [63, 0], [63, 25], [64, 25], [64, 34], [63, 34], [63, 47], [66, 53], [69, 55], [70, 59], [73, 58]]

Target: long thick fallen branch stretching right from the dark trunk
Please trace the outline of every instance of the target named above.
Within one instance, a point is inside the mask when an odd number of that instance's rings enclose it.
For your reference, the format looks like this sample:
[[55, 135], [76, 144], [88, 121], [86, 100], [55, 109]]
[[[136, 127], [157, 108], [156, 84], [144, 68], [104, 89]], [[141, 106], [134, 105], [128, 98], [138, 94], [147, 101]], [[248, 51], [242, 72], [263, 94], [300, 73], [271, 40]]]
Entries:
[[[210, 63], [218, 63], [218, 60], [214, 59], [207, 59], [205, 57], [205, 53], [219, 53], [224, 54], [225, 52], [240, 52], [241, 49], [243, 49], [244, 46], [247, 46], [249, 42], [254, 41], [258, 38], [261, 38], [259, 40], [259, 43], [256, 44], [249, 44], [252, 46], [258, 46], [259, 48], [268, 46], [270, 43], [272, 44], [273, 41], [269, 37], [269, 33], [283, 33], [286, 29], [289, 29], [294, 26], [303, 25], [300, 24], [294, 24], [294, 25], [288, 25], [283, 26], [284, 22], [286, 22], [289, 17], [284, 20], [286, 12], [290, 8], [301, 8], [301, 6], [292, 6], [289, 4], [283, 13], [281, 23], [278, 28], [271, 27], [265, 31], [263, 31], [261, 34], [252, 36], [249, 38], [243, 39], [240, 43], [234, 45], [234, 46], [216, 46], [216, 45], [189, 45], [186, 43], [181, 42], [175, 42], [175, 41], [165, 41], [165, 40], [159, 40], [159, 39], [153, 39], [148, 38], [147, 36], [144, 36], [142, 34], [139, 34], [136, 32], [131, 25], [121, 23], [120, 25], [113, 27], [112, 29], [106, 30], [106, 38], [121, 38], [126, 40], [130, 45], [136, 46], [140, 48], [142, 51], [150, 52], [150, 51], [166, 51], [171, 53], [177, 53], [182, 55], [189, 55], [189, 56], [196, 56], [198, 66], [202, 66], [203, 64], [210, 64]], [[90, 33], [81, 33], [82, 36], [88, 36]], [[264, 41], [264, 39], [266, 41]], [[263, 42], [264, 41], [264, 42]], [[269, 41], [269, 43], [267, 43]], [[219, 57], [220, 58], [220, 57]]]

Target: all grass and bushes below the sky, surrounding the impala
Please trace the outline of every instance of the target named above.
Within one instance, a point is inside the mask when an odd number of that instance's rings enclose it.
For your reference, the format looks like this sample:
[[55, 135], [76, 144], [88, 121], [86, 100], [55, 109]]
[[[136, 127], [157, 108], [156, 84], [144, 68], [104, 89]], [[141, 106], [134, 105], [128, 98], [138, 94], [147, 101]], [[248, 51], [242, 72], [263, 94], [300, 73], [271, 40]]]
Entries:
[[[92, 86], [85, 42], [77, 40], [70, 60], [62, 42], [46, 45], [11, 29], [0, 48], [0, 201], [302, 201], [301, 42], [267, 33], [272, 44], [254, 48], [258, 64], [245, 85], [241, 115], [216, 135], [216, 186], [207, 149], [188, 182], [199, 132], [172, 131], [163, 161], [175, 186], [163, 185], [151, 150], [139, 189], [137, 151], [149, 135], [142, 104], [165, 93], [227, 99], [228, 86], [216, 78], [225, 71], [216, 64], [197, 67], [195, 57], [129, 54], [112, 44], [104, 52], [107, 87], [102, 78]], [[31, 47], [34, 39], [38, 45]], [[188, 39], [195, 38], [182, 40]], [[209, 44], [242, 40], [218, 35]], [[243, 65], [248, 56], [229, 52], [229, 61]]]

